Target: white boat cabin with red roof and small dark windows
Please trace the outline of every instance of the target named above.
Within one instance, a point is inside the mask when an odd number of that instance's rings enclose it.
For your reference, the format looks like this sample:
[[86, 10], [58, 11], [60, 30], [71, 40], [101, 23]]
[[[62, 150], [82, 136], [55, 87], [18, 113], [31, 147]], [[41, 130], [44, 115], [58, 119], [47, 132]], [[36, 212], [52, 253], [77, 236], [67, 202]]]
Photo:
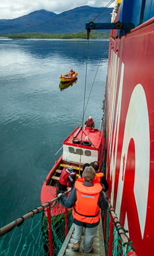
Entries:
[[63, 142], [63, 160], [70, 163], [90, 163], [103, 158], [103, 131], [84, 126], [76, 129]]

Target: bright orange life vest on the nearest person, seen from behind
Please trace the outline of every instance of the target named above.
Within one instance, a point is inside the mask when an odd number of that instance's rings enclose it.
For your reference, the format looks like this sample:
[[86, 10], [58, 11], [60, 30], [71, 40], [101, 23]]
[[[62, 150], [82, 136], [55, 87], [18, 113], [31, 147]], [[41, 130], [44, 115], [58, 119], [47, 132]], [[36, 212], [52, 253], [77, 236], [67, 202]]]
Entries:
[[76, 181], [77, 201], [72, 210], [72, 215], [76, 220], [86, 223], [99, 222], [100, 211], [97, 205], [99, 193], [102, 187], [99, 183], [94, 183], [92, 187], [86, 187], [82, 182]]

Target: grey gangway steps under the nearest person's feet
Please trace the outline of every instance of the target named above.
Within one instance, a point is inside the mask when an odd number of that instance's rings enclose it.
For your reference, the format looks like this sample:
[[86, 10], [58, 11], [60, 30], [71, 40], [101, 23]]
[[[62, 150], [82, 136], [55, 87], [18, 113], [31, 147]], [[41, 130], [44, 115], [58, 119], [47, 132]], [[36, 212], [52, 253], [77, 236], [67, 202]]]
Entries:
[[[82, 235], [82, 242], [80, 245], [80, 251], [72, 251], [72, 246], [74, 243], [73, 238], [74, 233], [74, 224], [72, 224], [72, 227], [70, 228], [70, 231], [68, 232], [68, 235], [66, 239], [64, 240], [63, 246], [61, 247], [61, 250], [59, 251], [59, 254], [57, 256], [87, 256], [89, 253], [84, 253], [82, 251], [82, 245], [84, 241], [84, 233]], [[95, 238], [93, 240], [93, 253], [90, 253], [90, 255], [93, 256], [105, 256], [105, 245], [104, 245], [104, 238], [103, 238], [103, 228], [102, 228], [102, 222], [99, 223], [99, 228], [97, 230], [97, 233], [95, 235]]]

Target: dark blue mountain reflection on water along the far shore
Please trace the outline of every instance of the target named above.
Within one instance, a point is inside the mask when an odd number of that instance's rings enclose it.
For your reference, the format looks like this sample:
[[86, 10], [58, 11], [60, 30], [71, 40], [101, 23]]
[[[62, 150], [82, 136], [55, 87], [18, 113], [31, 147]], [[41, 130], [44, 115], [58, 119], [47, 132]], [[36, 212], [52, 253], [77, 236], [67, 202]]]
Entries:
[[[1, 50], [20, 49], [22, 54], [34, 57], [35, 59], [63, 58], [71, 62], [84, 62], [87, 59], [88, 40], [1, 40]], [[90, 40], [89, 41], [89, 61], [96, 62], [100, 59], [100, 49], [104, 49], [104, 57], [108, 58], [109, 40]]]

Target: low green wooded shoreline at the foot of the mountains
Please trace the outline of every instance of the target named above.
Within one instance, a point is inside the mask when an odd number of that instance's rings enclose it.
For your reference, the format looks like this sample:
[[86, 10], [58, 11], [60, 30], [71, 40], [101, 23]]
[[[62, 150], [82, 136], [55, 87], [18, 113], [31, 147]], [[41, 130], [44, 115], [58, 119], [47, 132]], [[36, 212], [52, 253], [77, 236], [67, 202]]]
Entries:
[[[68, 34], [46, 34], [46, 33], [17, 33], [17, 34], [1, 34], [2, 38], [12, 38], [12, 39], [87, 39], [86, 30], [78, 33], [68, 33]], [[91, 31], [90, 39], [103, 39], [107, 38], [107, 33]]]

